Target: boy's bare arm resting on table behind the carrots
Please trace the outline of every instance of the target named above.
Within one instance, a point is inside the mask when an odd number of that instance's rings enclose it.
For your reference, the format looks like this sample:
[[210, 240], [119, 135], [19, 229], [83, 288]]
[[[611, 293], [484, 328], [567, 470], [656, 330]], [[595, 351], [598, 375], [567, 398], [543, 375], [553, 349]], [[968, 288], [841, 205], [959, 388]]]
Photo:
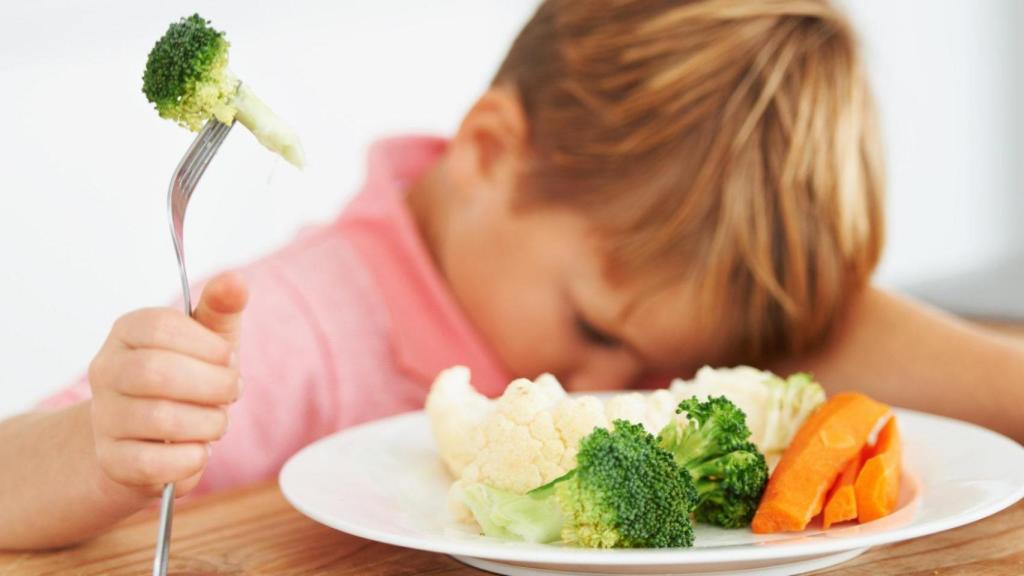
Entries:
[[878, 288], [852, 304], [821, 351], [771, 368], [1024, 441], [1024, 345]]

